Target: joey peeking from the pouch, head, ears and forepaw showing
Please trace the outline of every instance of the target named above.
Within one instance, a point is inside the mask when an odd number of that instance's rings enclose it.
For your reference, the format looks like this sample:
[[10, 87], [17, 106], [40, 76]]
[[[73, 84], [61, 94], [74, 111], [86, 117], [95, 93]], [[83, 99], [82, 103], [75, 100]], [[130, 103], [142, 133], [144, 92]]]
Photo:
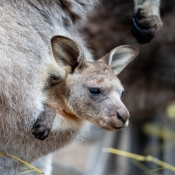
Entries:
[[[64, 126], [58, 123], [59, 128], [69, 126], [72, 121], [77, 127], [84, 121], [106, 130], [127, 127], [129, 112], [121, 100], [124, 88], [117, 75], [138, 51], [132, 46], [119, 46], [90, 62], [81, 47], [69, 38], [55, 36], [51, 46], [55, 64], [49, 70], [45, 90], [48, 99], [33, 134], [41, 140], [46, 138], [57, 114], [67, 122]], [[62, 76], [56, 73], [57, 69], [62, 71]]]

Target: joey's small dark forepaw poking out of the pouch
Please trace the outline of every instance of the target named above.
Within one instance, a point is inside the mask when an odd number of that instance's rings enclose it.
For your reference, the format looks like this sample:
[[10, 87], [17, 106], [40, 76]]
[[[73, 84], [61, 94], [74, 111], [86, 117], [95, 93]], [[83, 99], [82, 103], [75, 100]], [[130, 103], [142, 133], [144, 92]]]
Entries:
[[45, 105], [44, 111], [40, 114], [39, 118], [33, 126], [32, 134], [39, 140], [44, 140], [48, 137], [52, 128], [52, 123], [55, 118], [55, 109]]

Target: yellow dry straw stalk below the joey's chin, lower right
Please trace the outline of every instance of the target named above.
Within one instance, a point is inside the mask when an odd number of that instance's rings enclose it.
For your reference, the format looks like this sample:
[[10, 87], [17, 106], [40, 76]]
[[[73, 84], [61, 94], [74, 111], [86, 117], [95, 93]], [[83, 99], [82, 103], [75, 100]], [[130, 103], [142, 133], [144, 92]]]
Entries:
[[121, 151], [121, 150], [118, 150], [118, 149], [113, 149], [113, 148], [104, 148], [103, 149], [104, 152], [109, 152], [109, 153], [113, 153], [113, 154], [117, 154], [117, 155], [120, 155], [120, 156], [124, 156], [124, 157], [128, 157], [128, 158], [131, 158], [131, 159], [135, 159], [137, 161], [146, 161], [146, 162], [153, 162], [159, 166], [161, 166], [162, 168], [164, 169], [169, 169], [173, 172], [175, 172], [175, 167], [166, 163], [166, 162], [163, 162], [153, 156], [141, 156], [141, 155], [138, 155], [138, 154], [133, 154], [133, 153], [129, 153], [129, 152], [125, 152], [125, 151]]

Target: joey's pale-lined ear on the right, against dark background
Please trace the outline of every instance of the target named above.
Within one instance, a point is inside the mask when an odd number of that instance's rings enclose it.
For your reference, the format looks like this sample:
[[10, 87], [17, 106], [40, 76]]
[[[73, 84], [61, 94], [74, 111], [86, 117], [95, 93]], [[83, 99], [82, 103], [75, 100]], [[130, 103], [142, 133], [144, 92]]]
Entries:
[[114, 73], [118, 75], [137, 55], [138, 50], [135, 47], [124, 45], [113, 49], [99, 61], [109, 65]]

